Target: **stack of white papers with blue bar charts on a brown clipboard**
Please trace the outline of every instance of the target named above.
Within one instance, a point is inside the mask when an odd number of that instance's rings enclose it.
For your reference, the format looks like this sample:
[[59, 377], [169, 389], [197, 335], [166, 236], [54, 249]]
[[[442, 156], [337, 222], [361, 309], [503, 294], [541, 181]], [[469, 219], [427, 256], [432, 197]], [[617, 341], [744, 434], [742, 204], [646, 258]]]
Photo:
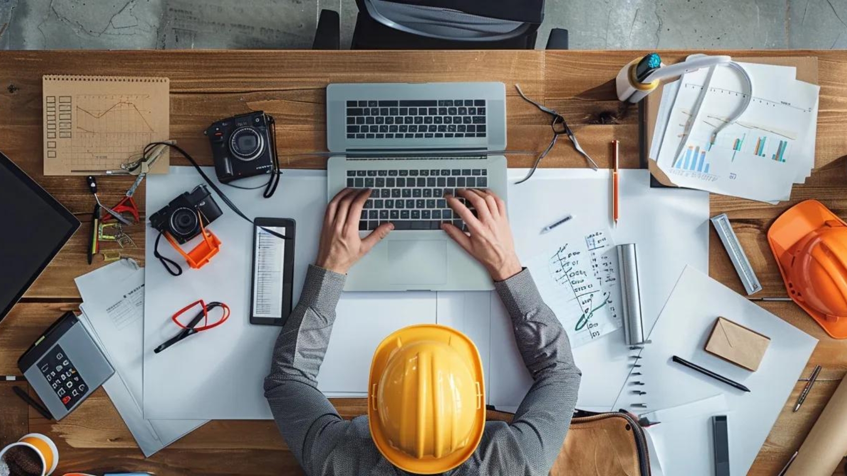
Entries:
[[[674, 185], [761, 202], [788, 200], [815, 164], [820, 86], [795, 79], [794, 67], [739, 63], [743, 76], [717, 66], [667, 84], [650, 158]], [[700, 107], [697, 107], [697, 102]], [[718, 128], [721, 128], [716, 135]]]

